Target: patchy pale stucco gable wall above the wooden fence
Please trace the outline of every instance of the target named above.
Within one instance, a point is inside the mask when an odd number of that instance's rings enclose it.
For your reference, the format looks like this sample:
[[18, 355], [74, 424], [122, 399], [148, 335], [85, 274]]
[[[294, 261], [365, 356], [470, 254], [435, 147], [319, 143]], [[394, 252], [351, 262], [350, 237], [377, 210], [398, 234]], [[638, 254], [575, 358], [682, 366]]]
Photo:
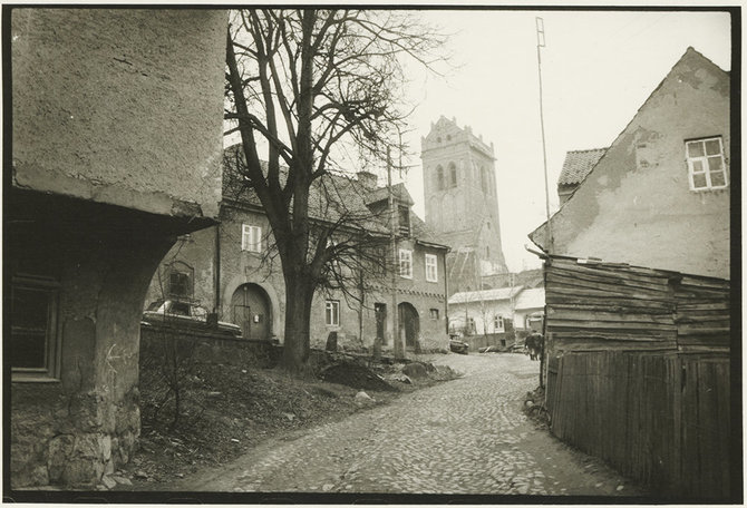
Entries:
[[688, 182], [685, 140], [710, 136], [728, 168], [729, 77], [689, 50], [553, 216], [552, 252], [728, 279], [730, 190]]

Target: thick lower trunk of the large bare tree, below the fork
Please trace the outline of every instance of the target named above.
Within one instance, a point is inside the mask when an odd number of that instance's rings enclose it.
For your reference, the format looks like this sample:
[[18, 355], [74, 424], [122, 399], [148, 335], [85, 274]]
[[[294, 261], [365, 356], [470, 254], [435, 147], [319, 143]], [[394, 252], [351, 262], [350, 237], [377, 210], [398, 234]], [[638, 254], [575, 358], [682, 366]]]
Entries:
[[282, 365], [292, 373], [300, 372], [309, 359], [313, 291], [308, 281], [285, 280], [285, 341]]

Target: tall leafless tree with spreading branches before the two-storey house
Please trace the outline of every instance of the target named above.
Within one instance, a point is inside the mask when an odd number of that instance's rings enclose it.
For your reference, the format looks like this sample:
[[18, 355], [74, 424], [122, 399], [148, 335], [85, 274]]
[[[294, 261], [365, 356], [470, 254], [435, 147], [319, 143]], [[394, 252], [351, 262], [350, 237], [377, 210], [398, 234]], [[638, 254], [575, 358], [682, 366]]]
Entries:
[[359, 263], [360, 232], [341, 227], [349, 224], [348, 211], [338, 209], [331, 224], [314, 222], [310, 190], [317, 185], [330, 192], [332, 179], [324, 176], [340, 170], [347, 150], [380, 160], [392, 134], [402, 129], [402, 63], [430, 66], [443, 42], [414, 14], [241, 10], [229, 28], [226, 118], [241, 134], [240, 170], [264, 208], [282, 263], [283, 365], [290, 371], [309, 356], [314, 292], [346, 286], [347, 275], [336, 272], [332, 261], [348, 254], [347, 263]]

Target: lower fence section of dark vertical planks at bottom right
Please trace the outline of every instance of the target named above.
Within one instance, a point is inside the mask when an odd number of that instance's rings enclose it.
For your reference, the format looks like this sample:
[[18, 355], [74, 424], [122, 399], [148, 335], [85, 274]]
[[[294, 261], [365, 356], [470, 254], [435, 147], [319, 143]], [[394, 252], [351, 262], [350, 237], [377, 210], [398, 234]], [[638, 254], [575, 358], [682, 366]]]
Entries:
[[552, 432], [664, 496], [729, 496], [729, 360], [570, 353], [550, 370]]

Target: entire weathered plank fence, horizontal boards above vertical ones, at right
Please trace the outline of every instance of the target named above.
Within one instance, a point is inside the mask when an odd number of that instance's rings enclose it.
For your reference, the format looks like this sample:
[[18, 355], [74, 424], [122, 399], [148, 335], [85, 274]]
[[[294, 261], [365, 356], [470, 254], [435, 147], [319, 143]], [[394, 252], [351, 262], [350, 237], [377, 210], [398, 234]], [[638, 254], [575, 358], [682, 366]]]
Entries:
[[545, 262], [551, 430], [677, 497], [729, 496], [729, 282]]

